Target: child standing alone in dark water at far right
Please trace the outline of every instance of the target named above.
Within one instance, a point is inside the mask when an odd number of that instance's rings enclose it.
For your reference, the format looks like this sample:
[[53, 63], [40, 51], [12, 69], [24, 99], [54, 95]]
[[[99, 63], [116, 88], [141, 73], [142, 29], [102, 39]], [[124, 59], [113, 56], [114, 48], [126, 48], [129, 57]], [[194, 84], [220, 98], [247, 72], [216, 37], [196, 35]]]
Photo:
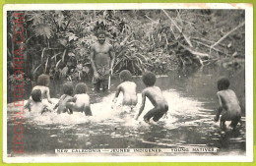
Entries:
[[227, 78], [220, 78], [218, 80], [219, 91], [217, 92], [217, 97], [220, 106], [214, 120], [218, 122], [222, 114], [220, 127], [225, 128], [225, 121], [231, 121], [230, 127], [235, 130], [237, 123], [241, 124], [241, 107], [234, 91], [228, 89], [229, 84]]

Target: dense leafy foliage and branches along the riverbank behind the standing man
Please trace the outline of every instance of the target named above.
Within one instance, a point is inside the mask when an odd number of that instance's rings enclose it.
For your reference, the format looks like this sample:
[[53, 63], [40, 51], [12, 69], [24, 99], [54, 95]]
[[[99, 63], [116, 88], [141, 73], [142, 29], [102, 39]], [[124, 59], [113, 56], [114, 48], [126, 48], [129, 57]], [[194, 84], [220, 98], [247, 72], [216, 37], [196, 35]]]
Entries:
[[[240, 67], [244, 62], [242, 10], [26, 11], [25, 70], [52, 79], [92, 75], [90, 45], [103, 29], [115, 50], [114, 73], [163, 74], [179, 67]], [[13, 12], [8, 12], [8, 78], [12, 80]]]

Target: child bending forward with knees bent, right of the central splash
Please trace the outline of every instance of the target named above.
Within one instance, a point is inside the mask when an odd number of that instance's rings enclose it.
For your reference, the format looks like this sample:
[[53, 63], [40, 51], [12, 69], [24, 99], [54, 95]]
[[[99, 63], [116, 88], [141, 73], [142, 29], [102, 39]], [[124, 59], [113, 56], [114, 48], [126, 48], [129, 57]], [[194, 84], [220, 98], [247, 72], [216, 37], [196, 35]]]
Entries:
[[144, 121], [146, 123], [149, 123], [151, 118], [153, 118], [153, 121], [155, 122], [159, 121], [168, 111], [168, 103], [162, 95], [160, 87], [154, 85], [156, 80], [156, 75], [152, 72], [146, 72], [143, 75], [142, 81], [147, 87], [142, 91], [142, 104], [139, 114], [135, 118], [136, 120], [138, 120], [144, 110], [146, 97], [148, 97], [154, 105], [154, 108], [144, 116]]

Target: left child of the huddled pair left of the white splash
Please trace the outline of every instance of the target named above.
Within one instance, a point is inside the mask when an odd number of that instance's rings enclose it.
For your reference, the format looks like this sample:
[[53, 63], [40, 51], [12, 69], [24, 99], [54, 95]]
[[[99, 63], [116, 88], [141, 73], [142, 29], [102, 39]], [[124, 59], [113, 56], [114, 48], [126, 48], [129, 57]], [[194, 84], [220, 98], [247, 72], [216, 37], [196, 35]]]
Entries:
[[63, 92], [64, 94], [60, 97], [59, 102], [55, 105], [54, 109], [58, 107], [57, 113], [71, 113], [72, 111], [67, 109], [66, 103], [72, 101], [73, 97], [73, 83], [65, 83], [63, 84]]

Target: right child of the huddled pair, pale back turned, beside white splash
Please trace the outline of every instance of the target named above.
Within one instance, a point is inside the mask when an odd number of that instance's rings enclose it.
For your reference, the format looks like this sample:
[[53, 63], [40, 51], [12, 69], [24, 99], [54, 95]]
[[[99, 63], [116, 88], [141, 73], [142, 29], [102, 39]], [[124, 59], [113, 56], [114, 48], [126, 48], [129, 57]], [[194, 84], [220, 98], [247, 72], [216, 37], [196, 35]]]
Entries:
[[85, 112], [86, 116], [92, 116], [90, 97], [87, 94], [87, 84], [78, 83], [76, 85], [76, 95], [73, 97], [73, 102], [67, 102], [66, 107], [76, 112]]

